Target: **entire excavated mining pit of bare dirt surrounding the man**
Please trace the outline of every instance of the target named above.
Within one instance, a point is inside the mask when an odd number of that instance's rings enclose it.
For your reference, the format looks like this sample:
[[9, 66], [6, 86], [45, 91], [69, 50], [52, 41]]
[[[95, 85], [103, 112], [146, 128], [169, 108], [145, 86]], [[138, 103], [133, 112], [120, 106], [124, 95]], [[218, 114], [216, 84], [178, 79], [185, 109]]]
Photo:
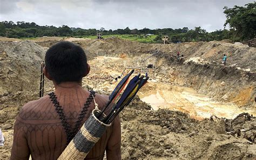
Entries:
[[[10, 157], [19, 109], [38, 98], [46, 49], [62, 40], [85, 49], [91, 72], [83, 87], [99, 93], [110, 94], [117, 85], [113, 77], [125, 68], [156, 67], [147, 71], [149, 83], [120, 113], [123, 158], [256, 158], [256, 118], [233, 120], [242, 112], [256, 114], [255, 48], [218, 41], [160, 45], [117, 38], [0, 38], [1, 159]], [[177, 50], [184, 60], [177, 60]], [[231, 53], [226, 66], [220, 63], [224, 53]], [[136, 69], [134, 75], [139, 72], [145, 73]], [[46, 80], [45, 93], [52, 90]]]

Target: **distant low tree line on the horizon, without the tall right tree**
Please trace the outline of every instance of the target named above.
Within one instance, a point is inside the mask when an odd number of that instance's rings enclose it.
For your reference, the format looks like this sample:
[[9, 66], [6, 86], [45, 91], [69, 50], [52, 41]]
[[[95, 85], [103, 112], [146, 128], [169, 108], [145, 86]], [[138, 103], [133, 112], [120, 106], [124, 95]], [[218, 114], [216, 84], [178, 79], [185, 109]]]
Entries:
[[163, 28], [151, 30], [149, 28], [143, 28], [142, 30], [133, 29], [130, 30], [129, 27], [125, 29], [117, 30], [105, 30], [100, 28], [100, 30], [93, 29], [83, 29], [83, 28], [73, 28], [66, 25], [61, 27], [55, 26], [39, 26], [36, 23], [29, 23], [25, 21], [2, 21], [0, 22], [0, 36], [8, 38], [34, 38], [34, 37], [83, 37], [86, 35], [96, 35], [97, 33], [102, 33], [104, 35], [114, 35], [114, 34], [133, 34], [133, 35], [146, 35], [146, 34], [156, 34], [158, 35], [155, 39], [156, 42], [161, 42], [161, 37], [163, 35], [169, 35], [171, 42], [190, 42], [190, 41], [211, 41], [211, 40], [223, 40], [230, 38], [230, 31], [228, 30], [217, 30], [214, 32], [206, 32], [201, 27], [195, 27], [189, 30], [187, 27], [172, 29]]

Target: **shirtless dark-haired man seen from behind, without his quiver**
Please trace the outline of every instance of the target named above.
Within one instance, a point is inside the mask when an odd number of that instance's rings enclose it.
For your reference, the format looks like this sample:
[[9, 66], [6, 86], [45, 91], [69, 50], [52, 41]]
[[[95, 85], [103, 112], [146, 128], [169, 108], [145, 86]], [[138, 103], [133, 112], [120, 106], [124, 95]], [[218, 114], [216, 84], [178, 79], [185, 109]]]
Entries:
[[[57, 97], [71, 132], [68, 135], [64, 129], [49, 95], [30, 101], [15, 122], [11, 159], [29, 159], [30, 155], [32, 159], [57, 159], [95, 108], [92, 97], [99, 109], [106, 105], [107, 96], [82, 88], [82, 78], [89, 71], [84, 50], [71, 42], [59, 42], [46, 52], [44, 74], [55, 85], [51, 95]], [[117, 117], [85, 159], [103, 159], [105, 151], [107, 159], [121, 159], [120, 144]]]

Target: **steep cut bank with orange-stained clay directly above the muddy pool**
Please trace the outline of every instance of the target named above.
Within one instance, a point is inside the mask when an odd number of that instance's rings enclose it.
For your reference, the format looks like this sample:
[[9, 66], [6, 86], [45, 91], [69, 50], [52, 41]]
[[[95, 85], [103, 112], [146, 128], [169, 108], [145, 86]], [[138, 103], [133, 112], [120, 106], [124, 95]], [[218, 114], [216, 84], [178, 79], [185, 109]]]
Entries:
[[165, 53], [150, 62], [159, 66], [159, 76], [164, 77], [162, 82], [191, 87], [201, 94], [240, 106], [254, 104], [255, 72], [198, 58], [180, 63], [175, 56]]

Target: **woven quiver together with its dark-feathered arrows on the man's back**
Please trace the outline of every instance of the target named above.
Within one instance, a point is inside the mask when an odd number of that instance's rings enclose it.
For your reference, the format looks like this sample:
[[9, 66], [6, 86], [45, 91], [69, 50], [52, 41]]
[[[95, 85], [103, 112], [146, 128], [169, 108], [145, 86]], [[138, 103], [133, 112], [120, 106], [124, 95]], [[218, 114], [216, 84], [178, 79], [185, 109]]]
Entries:
[[[131, 70], [129, 74], [118, 83], [102, 111], [97, 107], [92, 111], [90, 117], [82, 128], [80, 128], [76, 136], [73, 137], [58, 159], [84, 159], [86, 157], [95, 143], [103, 135], [106, 128], [111, 125], [114, 118], [117, 117], [125, 106], [129, 105], [139, 89], [142, 88], [149, 79], [147, 74], [146, 76], [140, 76], [140, 74], [138, 74], [129, 82], [129, 78], [133, 72], [134, 70]], [[120, 96], [123, 90], [124, 92], [122, 96]], [[106, 111], [107, 108], [110, 109], [110, 112], [106, 115], [103, 112]]]

